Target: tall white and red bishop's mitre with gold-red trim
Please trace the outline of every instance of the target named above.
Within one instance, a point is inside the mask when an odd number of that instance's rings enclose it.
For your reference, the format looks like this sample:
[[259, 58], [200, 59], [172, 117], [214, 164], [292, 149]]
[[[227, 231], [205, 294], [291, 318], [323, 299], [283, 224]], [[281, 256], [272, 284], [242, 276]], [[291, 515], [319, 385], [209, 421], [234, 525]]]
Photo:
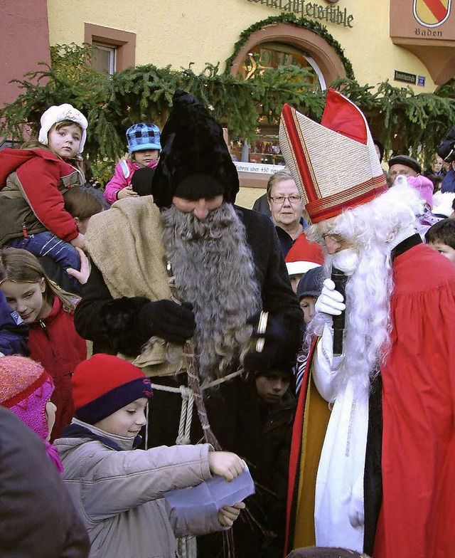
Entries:
[[284, 105], [279, 145], [312, 223], [387, 190], [365, 116], [338, 91], [328, 90], [321, 124]]

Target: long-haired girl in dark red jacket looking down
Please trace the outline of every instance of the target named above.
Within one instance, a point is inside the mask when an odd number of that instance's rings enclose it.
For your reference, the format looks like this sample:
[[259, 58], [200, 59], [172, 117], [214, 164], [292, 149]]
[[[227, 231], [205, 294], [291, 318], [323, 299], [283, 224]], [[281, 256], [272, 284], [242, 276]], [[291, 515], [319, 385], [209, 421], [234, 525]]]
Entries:
[[71, 376], [87, 358], [86, 342], [74, 327], [78, 299], [51, 283], [37, 258], [20, 248], [0, 251], [0, 289], [29, 327], [31, 358], [41, 362], [53, 379], [50, 399], [57, 406], [53, 441], [73, 418]]

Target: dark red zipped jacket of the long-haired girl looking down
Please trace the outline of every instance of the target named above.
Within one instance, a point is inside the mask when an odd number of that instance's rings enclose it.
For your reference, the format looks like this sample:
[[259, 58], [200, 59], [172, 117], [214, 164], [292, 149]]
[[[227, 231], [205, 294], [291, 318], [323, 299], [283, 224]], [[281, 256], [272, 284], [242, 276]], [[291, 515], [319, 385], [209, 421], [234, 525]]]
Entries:
[[74, 416], [71, 376], [77, 364], [87, 358], [87, 344], [76, 333], [73, 312], [65, 310], [57, 296], [50, 313], [31, 324], [28, 348], [31, 359], [41, 362], [55, 384], [50, 398], [57, 406], [55, 426], [50, 438], [53, 441]]

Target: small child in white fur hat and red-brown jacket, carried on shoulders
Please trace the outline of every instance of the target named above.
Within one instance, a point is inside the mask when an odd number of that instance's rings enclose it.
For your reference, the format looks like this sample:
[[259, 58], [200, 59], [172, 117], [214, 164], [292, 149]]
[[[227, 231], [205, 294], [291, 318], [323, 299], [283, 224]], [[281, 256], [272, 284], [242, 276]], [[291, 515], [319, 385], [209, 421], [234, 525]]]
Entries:
[[[64, 194], [85, 183], [82, 157], [87, 119], [71, 105], [48, 108], [38, 142], [0, 153], [0, 246], [49, 256], [61, 268], [80, 268], [75, 250], [84, 236], [64, 209]], [[73, 280], [72, 292], [80, 293]]]

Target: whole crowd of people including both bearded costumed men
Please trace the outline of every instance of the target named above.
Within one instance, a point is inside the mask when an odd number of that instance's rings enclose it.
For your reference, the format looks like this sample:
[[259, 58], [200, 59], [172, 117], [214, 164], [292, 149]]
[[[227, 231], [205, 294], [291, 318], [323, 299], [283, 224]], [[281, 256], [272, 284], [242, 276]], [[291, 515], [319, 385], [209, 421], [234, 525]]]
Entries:
[[[0, 152], [2, 555], [449, 556], [455, 128], [385, 170], [340, 93], [321, 124], [284, 105], [249, 210], [185, 91], [104, 192], [88, 127], [49, 107]], [[165, 498], [247, 470], [219, 510]]]

